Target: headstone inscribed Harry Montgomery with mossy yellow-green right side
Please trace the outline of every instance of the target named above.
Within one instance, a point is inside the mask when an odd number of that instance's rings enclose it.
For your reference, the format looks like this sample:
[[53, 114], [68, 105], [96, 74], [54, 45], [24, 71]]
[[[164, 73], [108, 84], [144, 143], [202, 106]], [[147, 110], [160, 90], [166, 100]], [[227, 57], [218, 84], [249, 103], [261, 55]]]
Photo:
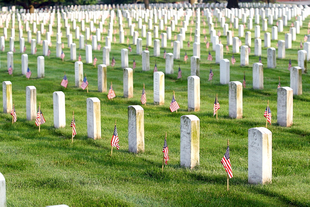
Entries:
[[181, 116], [180, 165], [193, 169], [199, 165], [200, 120], [195, 115]]

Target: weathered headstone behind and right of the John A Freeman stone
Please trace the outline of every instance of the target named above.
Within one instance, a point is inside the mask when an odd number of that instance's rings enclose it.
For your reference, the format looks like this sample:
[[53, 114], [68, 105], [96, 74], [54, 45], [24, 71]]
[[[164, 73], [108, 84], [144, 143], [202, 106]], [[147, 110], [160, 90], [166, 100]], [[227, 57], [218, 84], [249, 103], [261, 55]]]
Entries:
[[280, 126], [293, 124], [293, 89], [280, 87], [277, 89], [277, 122]]

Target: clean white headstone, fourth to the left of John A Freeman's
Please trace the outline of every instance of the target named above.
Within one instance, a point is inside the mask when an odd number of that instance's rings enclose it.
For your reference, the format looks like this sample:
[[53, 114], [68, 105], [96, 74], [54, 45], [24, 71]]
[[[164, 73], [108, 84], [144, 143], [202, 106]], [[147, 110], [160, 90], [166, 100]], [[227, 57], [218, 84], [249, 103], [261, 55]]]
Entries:
[[54, 127], [56, 129], [66, 126], [66, 110], [65, 110], [64, 92], [55, 91], [53, 93], [53, 111], [54, 111]]

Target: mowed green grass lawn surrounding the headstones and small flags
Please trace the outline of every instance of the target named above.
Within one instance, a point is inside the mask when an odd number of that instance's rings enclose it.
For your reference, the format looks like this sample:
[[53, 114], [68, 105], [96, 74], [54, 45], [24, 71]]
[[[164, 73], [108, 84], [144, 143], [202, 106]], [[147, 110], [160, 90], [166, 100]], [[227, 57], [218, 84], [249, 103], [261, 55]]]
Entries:
[[[201, 22], [204, 17], [201, 16]], [[133, 59], [137, 63], [134, 72], [134, 97], [123, 98], [123, 72], [121, 68], [121, 49], [128, 48], [127, 44], [112, 43], [112, 56], [116, 59], [116, 66], [107, 68], [108, 87], [113, 82], [116, 98], [108, 100], [107, 92], [97, 91], [97, 68], [85, 63], [85, 50], [77, 49], [82, 55], [84, 73], [89, 82], [89, 93], [74, 87], [74, 62], [70, 61], [70, 49], [67, 39], [63, 36], [65, 53], [64, 62], [55, 57], [56, 28], [53, 26], [53, 45], [50, 47], [51, 56], [45, 57], [45, 78], [37, 77], [37, 56], [42, 55], [42, 45], [37, 44], [36, 55], [30, 54], [30, 43], [26, 40], [26, 53], [29, 55], [29, 68], [32, 77], [27, 80], [21, 74], [21, 54], [19, 53], [18, 30], [16, 29], [13, 77], [7, 73], [7, 51], [9, 42], [6, 40], [5, 52], [1, 52], [1, 80], [12, 82], [13, 102], [17, 112], [17, 122], [11, 124], [11, 115], [0, 113], [0, 172], [6, 178], [8, 206], [45, 206], [67, 204], [69, 206], [192, 206], [192, 205], [232, 205], [232, 206], [262, 206], [262, 205], [310, 205], [309, 199], [309, 117], [310, 117], [310, 81], [309, 75], [303, 74], [303, 94], [294, 96], [293, 126], [286, 128], [277, 123], [277, 84], [278, 76], [281, 86], [290, 86], [290, 72], [287, 70], [289, 59], [297, 66], [297, 49], [304, 34], [307, 34], [309, 18], [303, 22], [300, 34], [292, 42], [292, 49], [286, 50], [286, 59], [277, 59], [277, 68], [267, 68], [267, 48], [262, 48], [262, 62], [264, 64], [264, 89], [252, 88], [252, 64], [258, 62], [254, 56], [254, 28], [252, 32], [252, 46], [249, 56], [249, 66], [240, 67], [240, 54], [235, 54], [237, 63], [230, 65], [230, 80], [243, 80], [246, 74], [246, 89], [243, 89], [243, 118], [228, 117], [228, 85], [219, 84], [219, 65], [215, 64], [215, 52], [212, 44], [206, 50], [203, 26], [201, 23], [201, 63], [200, 63], [200, 100], [199, 112], [187, 111], [187, 77], [190, 76], [190, 57], [193, 54], [191, 43], [187, 47], [190, 28], [186, 33], [181, 59], [174, 60], [175, 73], [165, 75], [165, 104], [153, 104], [153, 67], [155, 61], [158, 71], [165, 72], [165, 60], [153, 57], [153, 46], [149, 46], [151, 70], [142, 72], [142, 57], [136, 55], [136, 46], [132, 45], [129, 29], [124, 27], [130, 38], [132, 52], [129, 54], [129, 67]], [[109, 20], [108, 20], [109, 21]], [[292, 19], [292, 21], [294, 21]], [[126, 18], [124, 19], [127, 25]], [[55, 20], [56, 23], [56, 20]], [[137, 22], [135, 22], [136, 25]], [[290, 25], [291, 21], [289, 21]], [[62, 21], [64, 25], [64, 22]], [[71, 24], [71, 33], [75, 31]], [[143, 23], [146, 24], [146, 23]], [[229, 24], [229, 22], [228, 22]], [[17, 25], [17, 24], [16, 24]], [[80, 26], [80, 23], [77, 23]], [[89, 25], [89, 23], [86, 23]], [[114, 24], [115, 25], [115, 24]], [[147, 25], [147, 24], [146, 24]], [[276, 21], [274, 21], [276, 25]], [[30, 24], [32, 28], [32, 24]], [[98, 24], [95, 24], [98, 27]], [[169, 26], [169, 25], [168, 25]], [[107, 24], [104, 25], [107, 28]], [[181, 20], [172, 33], [172, 38], [181, 28]], [[17, 28], [17, 26], [15, 27]], [[45, 27], [48, 28], [47, 25]], [[117, 28], [116, 26], [114, 28]], [[8, 36], [11, 36], [11, 27]], [[137, 29], [137, 26], [136, 26]], [[216, 31], [218, 31], [218, 27]], [[141, 32], [137, 29], [139, 33]], [[208, 32], [208, 27], [206, 27]], [[220, 31], [223, 33], [222, 29]], [[245, 31], [248, 31], [245, 29]], [[116, 33], [117, 42], [118, 28]], [[151, 32], [153, 32], [151, 30]], [[162, 31], [165, 32], [165, 31]], [[271, 25], [268, 25], [271, 33]], [[278, 39], [284, 40], [284, 34], [278, 33]], [[62, 33], [65, 34], [63, 28]], [[84, 34], [84, 32], [82, 32]], [[234, 29], [235, 36], [238, 31]], [[95, 33], [93, 33], [95, 35]], [[3, 30], [0, 31], [3, 35]], [[33, 38], [36, 35], [33, 33]], [[101, 34], [106, 37], [107, 33]], [[141, 35], [141, 33], [140, 33]], [[113, 35], [114, 36], [114, 35]], [[210, 42], [210, 35], [207, 35]], [[263, 32], [261, 32], [263, 39]], [[45, 39], [45, 35], [42, 35]], [[224, 58], [231, 59], [232, 46], [226, 54], [226, 37], [221, 36], [224, 45]], [[244, 43], [244, 37], [241, 37]], [[73, 42], [79, 45], [78, 39]], [[113, 42], [113, 40], [112, 40]], [[91, 41], [87, 41], [91, 44]], [[143, 48], [146, 40], [143, 38]], [[105, 43], [101, 41], [101, 46]], [[277, 41], [272, 41], [276, 47]], [[263, 45], [263, 41], [262, 41]], [[207, 60], [210, 50], [213, 61]], [[167, 41], [167, 52], [173, 52], [170, 40]], [[185, 51], [189, 61], [183, 61]], [[102, 63], [102, 50], [93, 51], [98, 64]], [[177, 69], [180, 64], [182, 80], [177, 80]], [[214, 76], [212, 84], [208, 81], [210, 67]], [[68, 88], [60, 86], [64, 71], [69, 80]], [[140, 105], [140, 97], [145, 84], [147, 104], [144, 108], [145, 152], [133, 154], [128, 152], [127, 107]], [[41, 108], [46, 123], [41, 126], [41, 132], [34, 121], [26, 120], [25, 87], [36, 86], [37, 106]], [[180, 105], [178, 112], [171, 113], [169, 104], [175, 91], [176, 100]], [[55, 129], [53, 124], [53, 92], [63, 91], [66, 101], [66, 127]], [[221, 108], [216, 120], [213, 117], [213, 103], [215, 96]], [[97, 97], [101, 101], [101, 134], [102, 138], [93, 140], [87, 138], [86, 99]], [[2, 98], [0, 98], [2, 99]], [[247, 131], [252, 127], [264, 127], [266, 119], [263, 113], [269, 100], [272, 111], [272, 183], [268, 185], [250, 185], [247, 183]], [[70, 122], [72, 111], [75, 112], [77, 135], [71, 143]], [[180, 117], [194, 114], [200, 119], [200, 165], [193, 170], [180, 168]], [[120, 150], [113, 150], [110, 156], [110, 141], [113, 135], [114, 122], [117, 120]], [[170, 160], [162, 173], [162, 147], [165, 132], [169, 147]], [[230, 157], [234, 177], [230, 179], [230, 190], [226, 190], [226, 173], [220, 163], [230, 140]]]

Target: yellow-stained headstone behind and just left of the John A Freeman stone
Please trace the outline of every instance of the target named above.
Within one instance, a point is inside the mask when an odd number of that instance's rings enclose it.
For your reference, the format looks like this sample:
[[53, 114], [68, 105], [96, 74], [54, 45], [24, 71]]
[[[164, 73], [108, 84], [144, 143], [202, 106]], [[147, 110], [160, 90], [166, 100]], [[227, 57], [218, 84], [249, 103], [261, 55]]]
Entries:
[[229, 82], [229, 117], [242, 118], [242, 83], [239, 81]]

